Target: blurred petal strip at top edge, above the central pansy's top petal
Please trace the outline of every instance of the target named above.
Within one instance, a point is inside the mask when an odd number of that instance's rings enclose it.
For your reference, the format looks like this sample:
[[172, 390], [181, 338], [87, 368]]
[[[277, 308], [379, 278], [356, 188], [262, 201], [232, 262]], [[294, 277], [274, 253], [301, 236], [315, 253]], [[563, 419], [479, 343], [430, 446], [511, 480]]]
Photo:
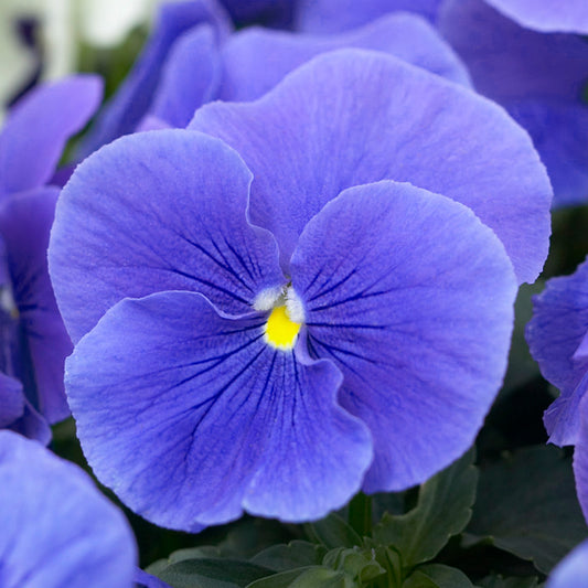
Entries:
[[310, 33], [338, 33], [388, 12], [406, 10], [435, 21], [441, 0], [298, 0], [297, 28]]

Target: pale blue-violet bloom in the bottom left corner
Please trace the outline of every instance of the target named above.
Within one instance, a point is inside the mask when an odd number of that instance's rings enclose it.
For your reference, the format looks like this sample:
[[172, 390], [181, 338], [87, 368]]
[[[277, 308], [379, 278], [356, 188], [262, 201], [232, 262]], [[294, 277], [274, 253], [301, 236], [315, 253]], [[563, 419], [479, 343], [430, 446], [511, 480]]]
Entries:
[[0, 585], [130, 588], [136, 547], [122, 513], [79, 468], [0, 431]]

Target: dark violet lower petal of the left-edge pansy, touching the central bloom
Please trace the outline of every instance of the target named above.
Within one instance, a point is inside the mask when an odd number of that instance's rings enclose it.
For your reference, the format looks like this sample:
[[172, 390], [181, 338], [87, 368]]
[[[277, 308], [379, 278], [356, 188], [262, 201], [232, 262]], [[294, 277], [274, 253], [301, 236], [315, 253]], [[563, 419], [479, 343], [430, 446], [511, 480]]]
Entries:
[[6, 243], [19, 322], [33, 362], [38, 408], [50, 423], [70, 415], [63, 365], [73, 349], [47, 269], [49, 235], [58, 193], [56, 188], [39, 189], [0, 204], [0, 234]]

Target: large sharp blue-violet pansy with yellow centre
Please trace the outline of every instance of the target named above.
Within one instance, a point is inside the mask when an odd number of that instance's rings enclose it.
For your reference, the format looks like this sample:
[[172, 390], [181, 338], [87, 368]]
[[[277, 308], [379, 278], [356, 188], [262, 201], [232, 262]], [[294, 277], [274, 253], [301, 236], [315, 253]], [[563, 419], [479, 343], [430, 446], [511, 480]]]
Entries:
[[526, 133], [364, 51], [190, 129], [100, 149], [57, 205], [66, 388], [97, 477], [190, 531], [244, 510], [317, 518], [463, 453], [502, 381], [516, 281], [547, 252]]

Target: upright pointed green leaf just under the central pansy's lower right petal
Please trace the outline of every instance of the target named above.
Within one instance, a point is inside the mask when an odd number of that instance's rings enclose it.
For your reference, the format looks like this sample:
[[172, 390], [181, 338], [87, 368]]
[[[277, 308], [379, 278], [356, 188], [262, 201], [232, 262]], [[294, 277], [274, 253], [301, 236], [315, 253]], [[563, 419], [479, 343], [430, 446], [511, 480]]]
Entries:
[[415, 509], [406, 514], [384, 514], [374, 527], [374, 541], [394, 546], [405, 567], [432, 559], [471, 516], [478, 471], [471, 449], [461, 459], [421, 485]]

